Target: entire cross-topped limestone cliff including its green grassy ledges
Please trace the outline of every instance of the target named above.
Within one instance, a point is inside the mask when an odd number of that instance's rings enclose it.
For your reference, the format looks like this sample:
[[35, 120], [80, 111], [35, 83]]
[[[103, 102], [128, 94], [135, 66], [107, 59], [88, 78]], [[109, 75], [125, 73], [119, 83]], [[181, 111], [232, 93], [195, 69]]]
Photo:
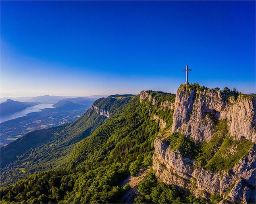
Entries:
[[[142, 91], [145, 101], [155, 105], [157, 99]], [[222, 202], [255, 203], [254, 97], [187, 84], [179, 87], [175, 103], [160, 107], [173, 113], [171, 122], [152, 115], [162, 130], [154, 141], [158, 179], [206, 200], [218, 195]]]

